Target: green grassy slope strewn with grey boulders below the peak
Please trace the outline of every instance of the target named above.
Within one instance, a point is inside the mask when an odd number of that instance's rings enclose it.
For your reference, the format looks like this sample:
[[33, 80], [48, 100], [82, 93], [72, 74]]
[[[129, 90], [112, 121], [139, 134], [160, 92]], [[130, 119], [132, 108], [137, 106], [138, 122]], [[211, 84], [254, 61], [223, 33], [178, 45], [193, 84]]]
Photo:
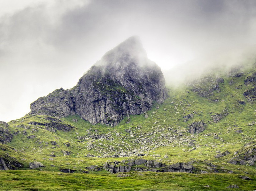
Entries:
[[[0, 190], [256, 189], [254, 68], [170, 87], [163, 104], [115, 127], [77, 115], [12, 120], [0, 158], [17, 170], [0, 171]], [[29, 169], [34, 161], [45, 167]]]

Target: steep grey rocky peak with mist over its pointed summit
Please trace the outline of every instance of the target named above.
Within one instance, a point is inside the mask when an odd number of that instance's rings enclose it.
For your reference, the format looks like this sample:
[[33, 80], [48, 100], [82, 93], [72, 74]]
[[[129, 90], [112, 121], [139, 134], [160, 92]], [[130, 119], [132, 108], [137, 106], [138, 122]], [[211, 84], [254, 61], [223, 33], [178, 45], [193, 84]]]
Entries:
[[147, 58], [137, 37], [130, 37], [97, 61], [77, 85], [57, 89], [31, 103], [31, 114], [77, 114], [91, 124], [117, 125], [126, 115], [142, 114], [167, 98], [160, 67]]

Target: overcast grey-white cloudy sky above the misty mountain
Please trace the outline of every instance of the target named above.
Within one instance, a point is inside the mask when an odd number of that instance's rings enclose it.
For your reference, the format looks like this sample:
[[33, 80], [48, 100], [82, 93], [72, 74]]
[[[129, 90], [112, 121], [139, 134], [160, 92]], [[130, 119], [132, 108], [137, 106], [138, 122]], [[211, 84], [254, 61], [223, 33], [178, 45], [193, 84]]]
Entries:
[[140, 36], [163, 71], [254, 46], [256, 1], [0, 0], [0, 120], [72, 88], [105, 52]]

